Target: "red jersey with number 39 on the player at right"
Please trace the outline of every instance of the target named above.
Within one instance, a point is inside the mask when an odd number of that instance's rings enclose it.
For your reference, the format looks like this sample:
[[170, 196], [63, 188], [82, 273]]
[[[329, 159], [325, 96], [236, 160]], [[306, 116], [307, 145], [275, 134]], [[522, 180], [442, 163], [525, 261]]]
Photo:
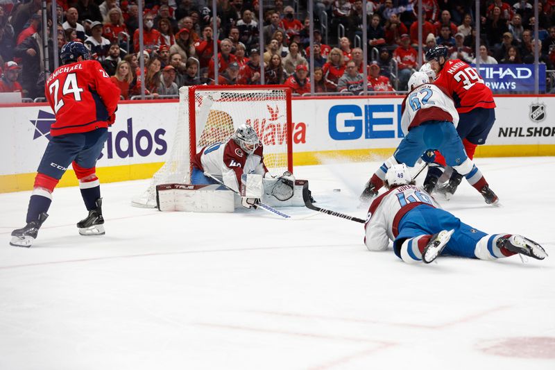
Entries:
[[460, 59], [447, 60], [434, 84], [450, 94], [459, 113], [470, 112], [474, 108], [495, 108], [490, 88], [476, 69]]

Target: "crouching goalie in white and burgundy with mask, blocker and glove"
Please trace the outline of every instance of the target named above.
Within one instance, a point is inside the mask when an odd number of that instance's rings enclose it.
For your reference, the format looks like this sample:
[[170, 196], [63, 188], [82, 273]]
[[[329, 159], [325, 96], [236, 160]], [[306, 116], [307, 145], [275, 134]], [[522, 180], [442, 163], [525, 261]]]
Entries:
[[[286, 171], [272, 176], [264, 165], [264, 148], [256, 131], [246, 124], [225, 142], [205, 146], [193, 160], [191, 184], [216, 184], [210, 174], [241, 194], [241, 205], [251, 208], [259, 203], [263, 190], [280, 201], [293, 196], [295, 178]], [[248, 176], [247, 176], [248, 175]], [[264, 181], [263, 181], [264, 179]]]

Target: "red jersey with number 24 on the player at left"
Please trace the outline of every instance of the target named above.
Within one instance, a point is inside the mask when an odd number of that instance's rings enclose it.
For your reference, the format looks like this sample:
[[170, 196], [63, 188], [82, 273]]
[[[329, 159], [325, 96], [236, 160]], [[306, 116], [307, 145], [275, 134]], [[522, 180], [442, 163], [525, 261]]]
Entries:
[[46, 80], [44, 93], [56, 114], [50, 135], [58, 136], [108, 127], [120, 91], [99, 62], [83, 60], [56, 69]]

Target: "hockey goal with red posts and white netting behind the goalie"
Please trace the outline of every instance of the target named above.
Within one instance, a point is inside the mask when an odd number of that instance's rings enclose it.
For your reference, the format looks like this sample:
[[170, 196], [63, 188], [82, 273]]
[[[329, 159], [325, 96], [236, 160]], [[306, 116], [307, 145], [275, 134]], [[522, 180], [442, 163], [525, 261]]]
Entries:
[[250, 124], [264, 144], [264, 163], [275, 174], [293, 172], [291, 90], [279, 86], [184, 86], [167, 162], [136, 207], [155, 208], [156, 185], [190, 183], [191, 160], [204, 146], [226, 142], [241, 124]]

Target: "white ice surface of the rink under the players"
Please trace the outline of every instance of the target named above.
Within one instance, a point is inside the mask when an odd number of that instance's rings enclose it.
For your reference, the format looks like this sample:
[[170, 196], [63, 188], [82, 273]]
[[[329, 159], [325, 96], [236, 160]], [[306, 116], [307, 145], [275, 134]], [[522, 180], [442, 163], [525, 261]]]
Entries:
[[[146, 180], [102, 185], [104, 237], [78, 235], [78, 188], [56, 190], [23, 249], [8, 241], [30, 192], [0, 194], [0, 369], [555, 369], [555, 158], [476, 162], [503, 206], [464, 180], [440, 203], [536, 240], [546, 260], [409, 265], [306, 208], [132, 208]], [[295, 172], [318, 205], [364, 218], [355, 199], [378, 165]]]

